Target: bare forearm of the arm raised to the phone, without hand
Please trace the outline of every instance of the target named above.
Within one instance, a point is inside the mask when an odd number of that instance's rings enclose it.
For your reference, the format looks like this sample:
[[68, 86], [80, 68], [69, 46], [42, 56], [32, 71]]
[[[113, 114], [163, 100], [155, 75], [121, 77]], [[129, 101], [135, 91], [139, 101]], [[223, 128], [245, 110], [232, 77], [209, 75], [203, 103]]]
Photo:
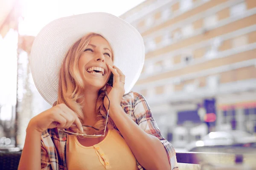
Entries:
[[147, 170], [170, 170], [168, 156], [160, 140], [143, 131], [120, 106], [111, 118], [138, 162]]

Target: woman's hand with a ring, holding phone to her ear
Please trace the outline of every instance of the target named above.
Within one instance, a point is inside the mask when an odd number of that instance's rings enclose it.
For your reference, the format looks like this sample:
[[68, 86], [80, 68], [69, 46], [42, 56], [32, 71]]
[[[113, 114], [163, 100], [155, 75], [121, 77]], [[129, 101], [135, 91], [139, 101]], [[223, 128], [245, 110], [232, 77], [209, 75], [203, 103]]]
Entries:
[[[120, 106], [122, 96], [125, 94], [125, 75], [116, 66], [108, 66], [109, 70], [113, 73], [113, 87], [107, 85], [108, 98], [110, 100], [110, 110]], [[108, 98], [104, 98], [104, 106], [108, 110]]]

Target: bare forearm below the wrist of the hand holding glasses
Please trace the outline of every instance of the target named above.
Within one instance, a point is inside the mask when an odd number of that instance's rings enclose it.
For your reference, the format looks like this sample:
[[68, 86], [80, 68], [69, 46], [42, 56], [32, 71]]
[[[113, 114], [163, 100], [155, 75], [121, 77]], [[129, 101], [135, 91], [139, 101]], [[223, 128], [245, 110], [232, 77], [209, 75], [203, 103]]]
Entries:
[[41, 133], [28, 125], [18, 170], [41, 170]]

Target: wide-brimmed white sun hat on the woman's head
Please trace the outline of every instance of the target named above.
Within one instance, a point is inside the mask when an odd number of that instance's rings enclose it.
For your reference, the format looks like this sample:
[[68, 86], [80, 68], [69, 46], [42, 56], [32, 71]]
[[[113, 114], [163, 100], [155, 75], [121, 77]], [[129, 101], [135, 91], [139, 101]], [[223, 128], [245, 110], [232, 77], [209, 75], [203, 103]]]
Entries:
[[67, 50], [90, 32], [101, 34], [113, 48], [113, 64], [125, 74], [125, 93], [131, 91], [140, 77], [145, 47], [136, 28], [103, 12], [59, 18], [38, 33], [29, 57], [35, 86], [50, 105], [58, 97], [58, 76]]

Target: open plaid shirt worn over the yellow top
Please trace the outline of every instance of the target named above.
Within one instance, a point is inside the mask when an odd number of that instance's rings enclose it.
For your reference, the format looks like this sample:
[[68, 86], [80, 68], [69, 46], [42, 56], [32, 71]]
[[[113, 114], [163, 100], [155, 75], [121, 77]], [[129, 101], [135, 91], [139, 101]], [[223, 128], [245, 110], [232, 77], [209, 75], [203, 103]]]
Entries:
[[[161, 135], [148, 103], [138, 93], [130, 92], [123, 96], [121, 106], [146, 133], [156, 136], [163, 144], [171, 163], [172, 170], [178, 170], [175, 149]], [[42, 170], [67, 170], [66, 164], [67, 135], [57, 128], [48, 129], [41, 136], [41, 168]], [[144, 168], [137, 161], [139, 170]]]

